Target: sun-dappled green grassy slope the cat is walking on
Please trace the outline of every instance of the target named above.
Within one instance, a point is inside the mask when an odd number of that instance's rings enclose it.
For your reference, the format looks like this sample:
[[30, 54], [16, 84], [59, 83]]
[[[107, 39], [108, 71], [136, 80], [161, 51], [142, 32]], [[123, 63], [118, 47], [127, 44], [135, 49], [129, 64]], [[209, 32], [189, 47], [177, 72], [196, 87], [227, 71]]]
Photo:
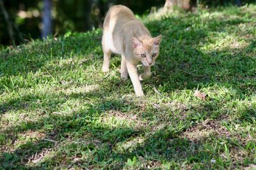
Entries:
[[256, 164], [255, 18], [252, 5], [148, 19], [163, 43], [143, 98], [119, 56], [100, 71], [100, 30], [2, 49], [0, 169]]

